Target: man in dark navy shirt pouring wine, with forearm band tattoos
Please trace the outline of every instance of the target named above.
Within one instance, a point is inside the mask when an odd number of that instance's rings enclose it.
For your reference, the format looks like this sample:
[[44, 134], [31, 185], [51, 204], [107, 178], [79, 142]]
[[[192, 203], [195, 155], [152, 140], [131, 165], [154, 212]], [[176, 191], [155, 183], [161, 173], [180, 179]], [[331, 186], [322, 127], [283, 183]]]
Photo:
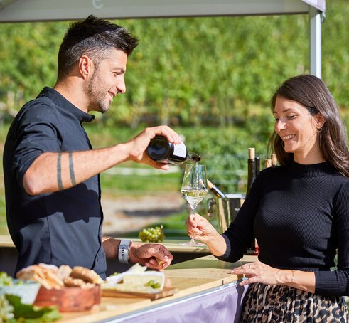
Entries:
[[[156, 135], [181, 138], [167, 126], [144, 129], [129, 142], [92, 149], [83, 127], [107, 112], [126, 91], [127, 58], [138, 39], [127, 29], [89, 16], [72, 23], [58, 53], [58, 78], [23, 106], [4, 147], [9, 233], [18, 250], [16, 271], [36, 263], [75, 265], [105, 277], [106, 257], [161, 270], [171, 253], [159, 244], [139, 245], [102, 237], [100, 172], [125, 161], [168, 169], [146, 154]], [[162, 265], [159, 265], [158, 258]]]

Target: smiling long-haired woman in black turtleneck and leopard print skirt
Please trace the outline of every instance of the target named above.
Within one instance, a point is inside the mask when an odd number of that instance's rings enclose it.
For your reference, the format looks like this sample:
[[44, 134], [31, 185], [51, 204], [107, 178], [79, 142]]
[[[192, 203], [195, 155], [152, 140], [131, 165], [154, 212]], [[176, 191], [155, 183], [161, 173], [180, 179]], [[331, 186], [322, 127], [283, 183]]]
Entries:
[[231, 270], [247, 278], [240, 285], [249, 285], [241, 322], [348, 322], [345, 124], [325, 83], [313, 75], [286, 80], [272, 97], [272, 114], [269, 148], [280, 166], [260, 171], [225, 233], [195, 214], [186, 222], [188, 234], [230, 262], [257, 238], [259, 261]]

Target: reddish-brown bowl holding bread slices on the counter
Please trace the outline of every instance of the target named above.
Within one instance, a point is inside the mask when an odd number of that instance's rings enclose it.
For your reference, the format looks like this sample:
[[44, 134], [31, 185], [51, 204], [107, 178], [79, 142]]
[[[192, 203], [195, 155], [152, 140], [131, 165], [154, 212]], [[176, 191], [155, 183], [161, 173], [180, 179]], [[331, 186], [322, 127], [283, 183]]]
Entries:
[[41, 286], [34, 305], [56, 305], [60, 312], [80, 312], [92, 309], [94, 305], [99, 305], [100, 300], [100, 285], [90, 288], [63, 287], [60, 290], [48, 290]]

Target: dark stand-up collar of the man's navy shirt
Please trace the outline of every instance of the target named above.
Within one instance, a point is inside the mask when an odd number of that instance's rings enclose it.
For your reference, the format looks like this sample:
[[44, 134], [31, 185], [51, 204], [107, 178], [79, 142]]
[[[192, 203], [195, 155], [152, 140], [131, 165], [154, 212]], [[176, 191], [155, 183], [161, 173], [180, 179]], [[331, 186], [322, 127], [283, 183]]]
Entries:
[[77, 120], [82, 122], [91, 122], [95, 119], [94, 115], [89, 115], [86, 112], [83, 112], [78, 107], [75, 107], [72, 103], [70, 103], [63, 95], [61, 95], [59, 92], [54, 90], [53, 88], [49, 88], [48, 86], [45, 86], [43, 90], [40, 92], [38, 97], [48, 97], [50, 100], [55, 102], [56, 105], [59, 105], [60, 107], [64, 107], [65, 109], [69, 110]]

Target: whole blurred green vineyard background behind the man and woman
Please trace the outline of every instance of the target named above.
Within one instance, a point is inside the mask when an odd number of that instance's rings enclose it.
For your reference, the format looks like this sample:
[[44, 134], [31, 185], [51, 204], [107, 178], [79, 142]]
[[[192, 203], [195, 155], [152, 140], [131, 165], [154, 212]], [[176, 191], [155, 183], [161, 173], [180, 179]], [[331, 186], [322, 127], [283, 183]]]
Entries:
[[[349, 6], [327, 1], [322, 25], [322, 78], [349, 125]], [[200, 152], [210, 179], [245, 191], [247, 148], [262, 161], [273, 129], [269, 99], [286, 78], [309, 73], [308, 15], [115, 20], [139, 37], [129, 58], [127, 92], [87, 126], [95, 148], [124, 142], [148, 126], [170, 125]], [[69, 22], [0, 23], [0, 145], [16, 112], [53, 86], [58, 47]], [[139, 165], [127, 165], [137, 166]], [[1, 167], [2, 176], [2, 167]], [[117, 181], [102, 175], [107, 194], [179, 190], [167, 180]], [[149, 183], [151, 182], [151, 183]], [[171, 183], [173, 183], [171, 185]], [[0, 234], [5, 227], [0, 184]], [[2, 224], [1, 224], [2, 223]]]

